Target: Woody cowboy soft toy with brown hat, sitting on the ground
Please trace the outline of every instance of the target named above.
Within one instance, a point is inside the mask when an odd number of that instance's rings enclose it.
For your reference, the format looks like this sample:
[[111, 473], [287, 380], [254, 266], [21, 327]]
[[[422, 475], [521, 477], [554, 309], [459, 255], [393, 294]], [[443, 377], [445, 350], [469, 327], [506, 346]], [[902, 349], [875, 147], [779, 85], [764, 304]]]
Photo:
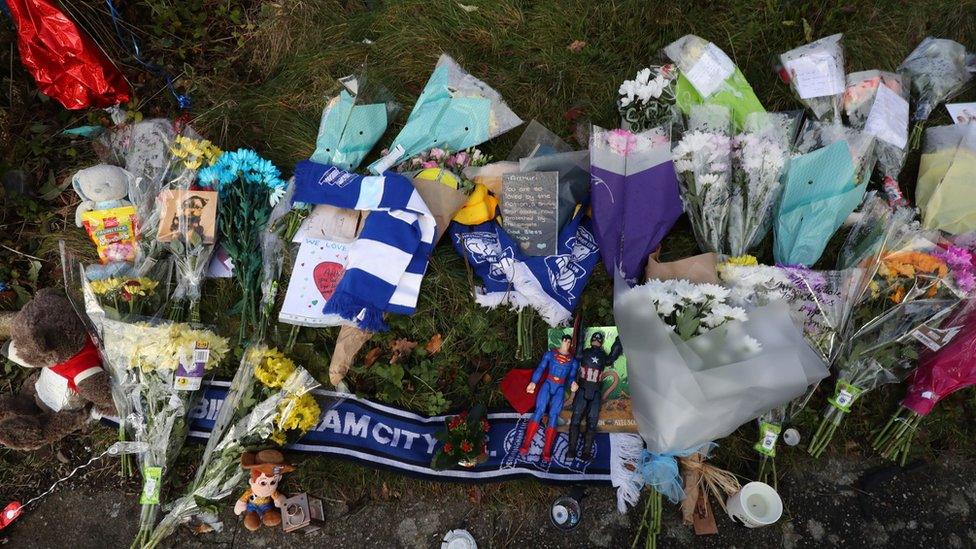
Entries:
[[277, 450], [245, 452], [241, 467], [250, 471], [250, 488], [234, 504], [234, 514], [244, 515], [244, 527], [255, 531], [261, 525], [275, 527], [281, 524], [281, 509], [286, 497], [278, 491], [285, 473], [295, 470], [285, 463], [285, 457]]

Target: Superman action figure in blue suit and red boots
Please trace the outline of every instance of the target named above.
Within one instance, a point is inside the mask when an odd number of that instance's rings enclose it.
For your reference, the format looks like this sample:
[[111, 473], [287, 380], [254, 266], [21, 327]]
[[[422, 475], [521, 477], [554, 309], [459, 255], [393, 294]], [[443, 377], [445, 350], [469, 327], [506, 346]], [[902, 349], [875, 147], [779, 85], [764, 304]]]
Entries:
[[[522, 447], [519, 448], [519, 454], [522, 456], [529, 453], [532, 438], [539, 430], [542, 416], [548, 416], [545, 443], [542, 446], [542, 461], [552, 459], [552, 443], [556, 440], [556, 421], [559, 418], [559, 411], [563, 408], [566, 385], [569, 385], [572, 392], [576, 392], [578, 388], [576, 369], [579, 362], [570, 354], [569, 348], [572, 342], [572, 336], [564, 335], [559, 342], [559, 348], [548, 351], [542, 357], [542, 361], [532, 374], [532, 382], [525, 388], [527, 393], [535, 393], [538, 389], [538, 394], [535, 398], [535, 413], [532, 414], [532, 419], [525, 428], [525, 438], [522, 439]], [[545, 379], [542, 377], [543, 374]]]

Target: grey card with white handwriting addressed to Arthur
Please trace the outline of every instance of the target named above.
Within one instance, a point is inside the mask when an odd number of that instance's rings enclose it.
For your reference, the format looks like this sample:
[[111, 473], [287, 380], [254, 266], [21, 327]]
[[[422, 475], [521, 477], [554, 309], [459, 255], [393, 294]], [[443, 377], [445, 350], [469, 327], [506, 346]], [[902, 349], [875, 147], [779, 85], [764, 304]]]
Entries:
[[529, 255], [553, 255], [559, 237], [559, 172], [511, 173], [502, 177], [505, 230]]

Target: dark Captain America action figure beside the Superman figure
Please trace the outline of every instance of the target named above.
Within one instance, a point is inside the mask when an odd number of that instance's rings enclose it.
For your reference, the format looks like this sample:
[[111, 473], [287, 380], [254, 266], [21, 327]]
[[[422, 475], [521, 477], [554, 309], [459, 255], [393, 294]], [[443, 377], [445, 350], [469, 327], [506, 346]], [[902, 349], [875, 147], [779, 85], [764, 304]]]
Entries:
[[586, 434], [583, 435], [583, 459], [589, 461], [592, 457], [593, 433], [596, 432], [597, 420], [600, 417], [600, 406], [603, 404], [603, 370], [611, 366], [624, 352], [620, 338], [613, 342], [610, 354], [603, 350], [603, 332], [594, 332], [590, 337], [590, 346], [580, 356], [579, 388], [573, 396], [573, 416], [569, 421], [569, 452], [567, 456], [576, 457], [576, 443], [579, 440], [580, 426], [586, 419]]

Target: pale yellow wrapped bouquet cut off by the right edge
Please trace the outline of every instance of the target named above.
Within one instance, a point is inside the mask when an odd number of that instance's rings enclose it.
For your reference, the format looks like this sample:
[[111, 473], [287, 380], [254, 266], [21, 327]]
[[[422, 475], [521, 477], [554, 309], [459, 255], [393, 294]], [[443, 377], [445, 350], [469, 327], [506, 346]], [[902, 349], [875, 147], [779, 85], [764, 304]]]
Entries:
[[959, 235], [976, 230], [976, 124], [925, 131], [915, 202], [927, 229]]

